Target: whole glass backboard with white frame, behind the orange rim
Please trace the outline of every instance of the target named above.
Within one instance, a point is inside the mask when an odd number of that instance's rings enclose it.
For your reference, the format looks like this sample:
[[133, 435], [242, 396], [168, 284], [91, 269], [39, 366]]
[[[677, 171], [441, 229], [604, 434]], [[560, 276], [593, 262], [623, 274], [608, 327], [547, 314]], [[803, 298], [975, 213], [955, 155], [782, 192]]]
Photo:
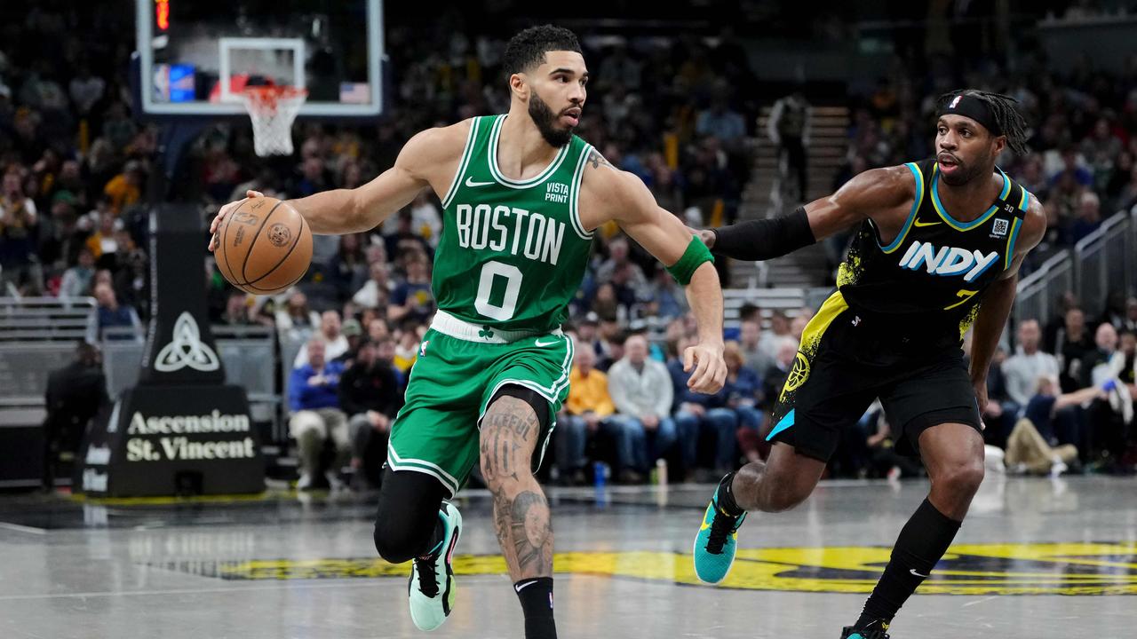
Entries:
[[307, 89], [300, 116], [382, 110], [382, 0], [134, 0], [142, 110], [244, 114], [259, 84]]

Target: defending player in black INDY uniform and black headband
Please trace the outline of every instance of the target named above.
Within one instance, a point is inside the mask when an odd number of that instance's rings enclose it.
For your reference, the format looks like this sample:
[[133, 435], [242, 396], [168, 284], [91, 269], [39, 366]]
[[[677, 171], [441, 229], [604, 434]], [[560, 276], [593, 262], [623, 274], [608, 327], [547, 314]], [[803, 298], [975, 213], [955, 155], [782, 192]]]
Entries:
[[[720, 255], [769, 259], [860, 224], [837, 291], [802, 337], [770, 458], [723, 478], [707, 507], [695, 540], [703, 581], [727, 576], [747, 511], [787, 511], [810, 496], [841, 431], [877, 397], [898, 447], [922, 458], [931, 491], [843, 639], [886, 639], [947, 550], [984, 479], [987, 367], [1019, 265], [1046, 231], [1039, 201], [995, 166], [1007, 146], [1026, 152], [1013, 102], [974, 90], [943, 96], [935, 159], [866, 171], [785, 217], [700, 233]], [[969, 370], [961, 345], [972, 326]]]

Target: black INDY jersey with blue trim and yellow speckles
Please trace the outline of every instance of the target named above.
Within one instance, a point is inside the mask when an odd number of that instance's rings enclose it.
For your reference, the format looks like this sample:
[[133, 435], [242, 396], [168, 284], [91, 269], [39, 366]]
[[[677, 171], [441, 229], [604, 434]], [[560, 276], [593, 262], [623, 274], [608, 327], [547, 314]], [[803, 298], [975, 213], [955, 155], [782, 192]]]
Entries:
[[920, 335], [929, 346], [957, 345], [984, 291], [1014, 259], [1030, 193], [998, 169], [998, 198], [979, 217], [960, 222], [939, 200], [936, 160], [905, 166], [916, 194], [904, 226], [885, 244], [871, 219], [862, 223], [837, 285], [849, 308], [887, 320], [898, 334]]

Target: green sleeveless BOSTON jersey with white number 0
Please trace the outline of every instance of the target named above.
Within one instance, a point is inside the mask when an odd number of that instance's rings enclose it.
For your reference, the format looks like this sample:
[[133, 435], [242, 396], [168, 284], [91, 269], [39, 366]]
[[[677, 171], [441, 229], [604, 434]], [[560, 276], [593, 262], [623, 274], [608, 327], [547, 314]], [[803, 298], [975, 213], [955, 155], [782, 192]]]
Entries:
[[441, 310], [504, 331], [561, 326], [588, 264], [592, 234], [576, 204], [591, 147], [578, 136], [536, 177], [511, 180], [497, 166], [506, 116], [473, 118], [434, 255]]

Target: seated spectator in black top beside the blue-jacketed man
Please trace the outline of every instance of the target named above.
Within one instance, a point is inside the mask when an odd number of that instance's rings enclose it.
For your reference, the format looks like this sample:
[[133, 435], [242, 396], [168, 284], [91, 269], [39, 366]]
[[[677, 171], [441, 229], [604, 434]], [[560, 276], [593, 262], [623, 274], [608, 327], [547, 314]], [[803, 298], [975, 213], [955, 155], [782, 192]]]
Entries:
[[[349, 322], [354, 322], [350, 320]], [[384, 349], [393, 350], [388, 340]], [[387, 463], [391, 424], [402, 407], [402, 384], [391, 360], [380, 358], [380, 346], [359, 345], [355, 360], [340, 377], [340, 409], [348, 416], [351, 435], [352, 488], [379, 487]]]

